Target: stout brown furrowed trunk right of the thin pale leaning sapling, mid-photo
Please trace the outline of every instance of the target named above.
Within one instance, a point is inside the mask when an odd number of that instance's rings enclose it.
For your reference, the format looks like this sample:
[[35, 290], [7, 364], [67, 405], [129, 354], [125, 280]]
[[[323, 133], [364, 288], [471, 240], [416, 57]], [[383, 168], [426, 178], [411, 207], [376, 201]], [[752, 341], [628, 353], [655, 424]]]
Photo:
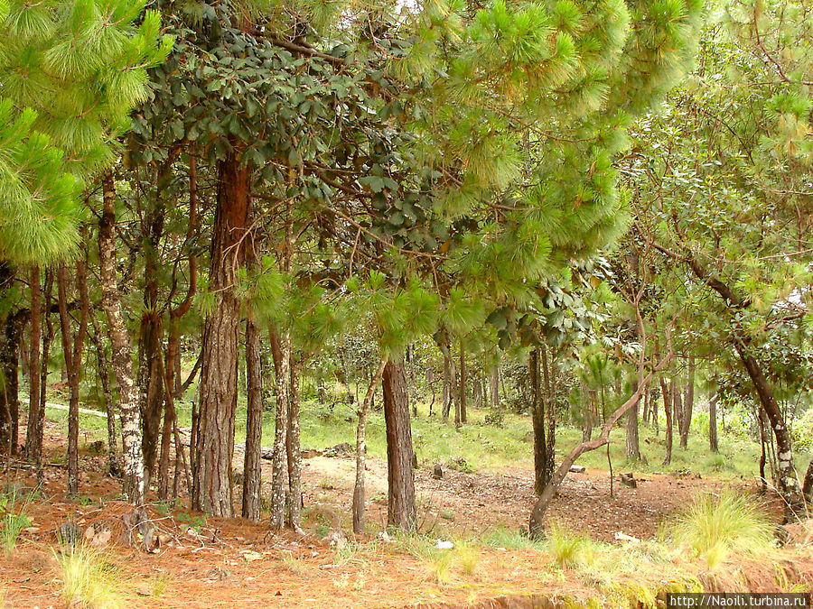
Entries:
[[382, 374], [384, 420], [387, 427], [388, 526], [415, 531], [415, 470], [412, 429], [406, 403], [406, 374], [402, 362], [388, 361]]

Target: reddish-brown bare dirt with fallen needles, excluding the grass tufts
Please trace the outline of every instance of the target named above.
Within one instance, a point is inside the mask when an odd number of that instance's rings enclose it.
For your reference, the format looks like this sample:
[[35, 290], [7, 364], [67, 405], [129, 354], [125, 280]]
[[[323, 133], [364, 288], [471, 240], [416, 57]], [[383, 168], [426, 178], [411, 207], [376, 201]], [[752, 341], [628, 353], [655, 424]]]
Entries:
[[[61, 452], [61, 438], [49, 426], [46, 446], [51, 458]], [[236, 455], [236, 465], [241, 455]], [[354, 462], [350, 458], [315, 457], [304, 470], [304, 528], [307, 533], [272, 535], [266, 524], [242, 519], [209, 518], [195, 521], [200, 531], [190, 531], [189, 512], [174, 512], [176, 519], [149, 508], [148, 513], [163, 535], [156, 553], [115, 544], [102, 550], [117, 564], [120, 579], [131, 591], [126, 606], [134, 607], [398, 607], [480, 606], [501, 595], [567, 596], [586, 600], [597, 591], [584, 574], [556, 567], [544, 552], [482, 548], [472, 574], [453, 567], [448, 581], [439, 584], [433, 568], [396, 544], [367, 543], [363, 549], [337, 551], [322, 540], [325, 523], [347, 530]], [[68, 500], [59, 467], [46, 471], [45, 500], [35, 500], [27, 512], [35, 530], [23, 532], [14, 553], [0, 557], [0, 593], [5, 587], [7, 607], [60, 607], [60, 580], [54, 548], [61, 523], [75, 521], [84, 530], [94, 521], [120, 528], [121, 514], [130, 508], [116, 500], [118, 482], [104, 474], [102, 457], [83, 456], [80, 493], [92, 501]], [[386, 464], [369, 461], [369, 522], [378, 529], [386, 516]], [[264, 466], [270, 477], [270, 464]], [[623, 532], [640, 539], [652, 538], [659, 522], [685, 504], [693, 494], [717, 493], [715, 480], [651, 475], [637, 489], [615, 484], [602, 472], [569, 475], [551, 508], [550, 518], [568, 528], [589, 533], [593, 539], [616, 543]], [[33, 487], [31, 470], [6, 468], [5, 484]], [[431, 469], [416, 475], [421, 529], [434, 538], [472, 537], [501, 525], [524, 527], [534, 502], [530, 471], [510, 469], [500, 473], [467, 474], [447, 471], [435, 480]], [[755, 491], [742, 484], [746, 492]], [[192, 514], [192, 518], [195, 514]], [[370, 537], [366, 541], [371, 541]], [[785, 550], [783, 550], [785, 551]], [[813, 550], [793, 549], [782, 555], [782, 572], [790, 583], [813, 581]], [[686, 564], [693, 564], [684, 562]], [[669, 567], [664, 577], [669, 577]], [[698, 575], [706, 588], [738, 582], [743, 589], [775, 590], [780, 580], [770, 564], [741, 564], [734, 579], [718, 580]], [[698, 574], [703, 566], [697, 565]], [[586, 583], [585, 583], [586, 582]], [[160, 595], [156, 591], [165, 585]], [[730, 589], [730, 588], [729, 588]], [[491, 602], [491, 601], [488, 601]], [[0, 602], [0, 606], [3, 606]], [[486, 605], [482, 605], [486, 606]], [[513, 605], [512, 605], [513, 606]], [[517, 604], [516, 606], [521, 606]]]

